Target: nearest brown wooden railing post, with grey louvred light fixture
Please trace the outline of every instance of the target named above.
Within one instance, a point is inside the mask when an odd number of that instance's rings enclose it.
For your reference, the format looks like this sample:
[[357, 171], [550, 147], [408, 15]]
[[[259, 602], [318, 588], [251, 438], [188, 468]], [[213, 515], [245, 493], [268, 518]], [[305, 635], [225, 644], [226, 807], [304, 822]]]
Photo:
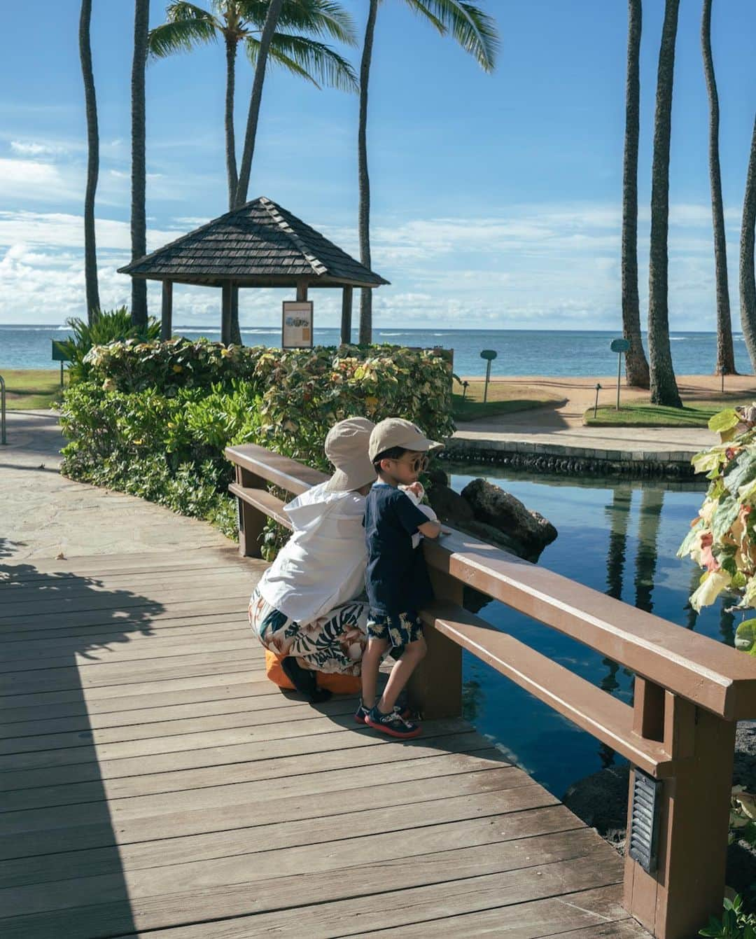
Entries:
[[687, 939], [722, 906], [735, 725], [640, 676], [635, 715], [636, 733], [661, 739], [683, 762], [661, 787], [656, 870], [647, 873], [625, 852], [625, 907], [658, 939]]

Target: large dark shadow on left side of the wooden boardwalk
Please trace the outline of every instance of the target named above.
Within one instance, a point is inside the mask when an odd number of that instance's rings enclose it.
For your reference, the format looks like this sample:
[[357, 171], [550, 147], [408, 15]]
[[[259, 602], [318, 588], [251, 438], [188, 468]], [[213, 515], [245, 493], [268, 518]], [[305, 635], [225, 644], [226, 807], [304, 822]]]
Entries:
[[[12, 547], [0, 539], [0, 558]], [[163, 609], [96, 577], [0, 562], [0, 933], [95, 934], [81, 908], [100, 897], [72, 880], [91, 873], [110, 875], [108, 934], [136, 931], [90, 708], [129, 694], [139, 663], [114, 669], [113, 647], [153, 635]]]

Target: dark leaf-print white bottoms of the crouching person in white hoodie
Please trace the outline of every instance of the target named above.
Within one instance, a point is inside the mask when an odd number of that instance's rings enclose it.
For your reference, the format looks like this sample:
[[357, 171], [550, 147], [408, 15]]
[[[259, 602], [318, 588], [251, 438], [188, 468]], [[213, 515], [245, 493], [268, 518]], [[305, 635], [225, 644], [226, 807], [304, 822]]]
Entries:
[[359, 675], [367, 645], [367, 604], [352, 600], [302, 626], [263, 596], [252, 594], [250, 626], [257, 639], [276, 655], [293, 655], [303, 669]]

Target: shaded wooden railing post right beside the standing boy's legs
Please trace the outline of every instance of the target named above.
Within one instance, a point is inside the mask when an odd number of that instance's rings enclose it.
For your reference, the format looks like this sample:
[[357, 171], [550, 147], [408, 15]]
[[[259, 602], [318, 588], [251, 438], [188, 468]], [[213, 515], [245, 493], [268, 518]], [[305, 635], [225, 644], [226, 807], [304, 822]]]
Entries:
[[[462, 583], [429, 567], [437, 600], [462, 606]], [[458, 717], [462, 713], [462, 649], [453, 639], [425, 626], [428, 653], [409, 679], [409, 706], [426, 719]]]

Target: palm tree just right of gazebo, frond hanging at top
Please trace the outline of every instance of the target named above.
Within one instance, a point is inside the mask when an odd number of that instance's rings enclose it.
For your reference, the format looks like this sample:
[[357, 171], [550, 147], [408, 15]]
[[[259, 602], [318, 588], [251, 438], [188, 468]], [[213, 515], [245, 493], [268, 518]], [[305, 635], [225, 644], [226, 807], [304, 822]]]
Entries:
[[[360, 205], [358, 235], [360, 260], [370, 267], [370, 180], [367, 175], [367, 90], [373, 56], [379, 0], [370, 0], [365, 25], [363, 57], [360, 64], [360, 122], [357, 131], [358, 178]], [[410, 9], [420, 13], [428, 23], [445, 36], [451, 33], [462, 48], [475, 57], [484, 71], [492, 71], [499, 47], [499, 36], [492, 17], [463, 0], [406, 0]], [[363, 288], [360, 296], [360, 342], [373, 337], [373, 294]]]

